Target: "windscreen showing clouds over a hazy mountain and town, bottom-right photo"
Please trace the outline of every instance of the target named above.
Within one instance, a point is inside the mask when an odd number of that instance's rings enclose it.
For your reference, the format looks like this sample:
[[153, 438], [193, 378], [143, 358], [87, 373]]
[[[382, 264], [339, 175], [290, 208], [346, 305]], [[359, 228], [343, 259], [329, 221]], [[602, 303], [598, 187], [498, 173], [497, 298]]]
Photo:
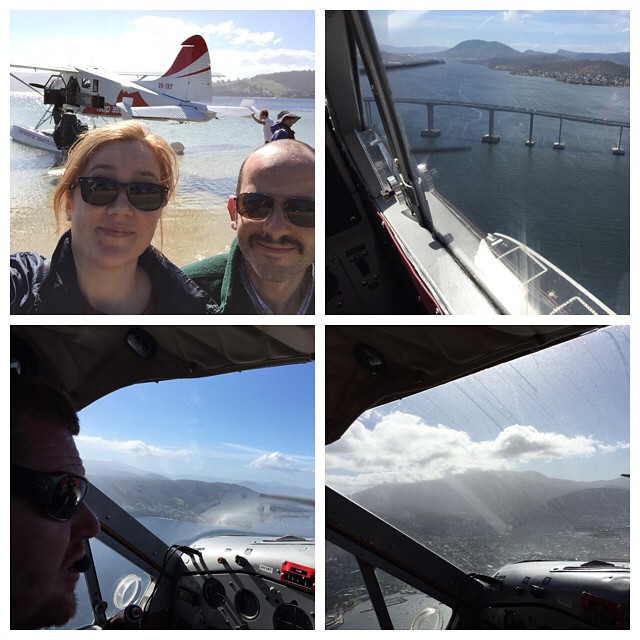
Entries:
[[[611, 326], [371, 409], [326, 447], [326, 482], [465, 574], [628, 563], [629, 364]], [[366, 625], [345, 553], [327, 613]]]

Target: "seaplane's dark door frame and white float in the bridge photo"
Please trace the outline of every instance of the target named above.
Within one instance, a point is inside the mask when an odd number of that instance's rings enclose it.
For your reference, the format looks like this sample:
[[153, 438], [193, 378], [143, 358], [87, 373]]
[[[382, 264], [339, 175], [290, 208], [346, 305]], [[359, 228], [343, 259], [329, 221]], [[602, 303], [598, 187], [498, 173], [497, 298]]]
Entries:
[[438, 191], [366, 11], [327, 11], [325, 30], [327, 313], [614, 314], [523, 238], [479, 228]]

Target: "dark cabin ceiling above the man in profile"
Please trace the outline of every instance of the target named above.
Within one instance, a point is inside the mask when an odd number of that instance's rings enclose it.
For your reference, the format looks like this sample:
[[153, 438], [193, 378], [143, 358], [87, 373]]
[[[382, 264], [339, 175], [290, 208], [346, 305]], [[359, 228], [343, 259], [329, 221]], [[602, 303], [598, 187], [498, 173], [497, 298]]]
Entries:
[[77, 410], [139, 382], [309, 362], [313, 326], [12, 326], [12, 375], [64, 390]]

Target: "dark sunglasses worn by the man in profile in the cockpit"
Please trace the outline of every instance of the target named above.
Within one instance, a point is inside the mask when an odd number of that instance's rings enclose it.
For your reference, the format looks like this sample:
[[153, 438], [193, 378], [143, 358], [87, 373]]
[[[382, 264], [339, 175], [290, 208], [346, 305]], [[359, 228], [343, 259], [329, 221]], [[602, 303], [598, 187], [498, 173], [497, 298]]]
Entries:
[[73, 473], [42, 473], [11, 465], [11, 493], [35, 502], [60, 522], [73, 518], [88, 488], [89, 481]]

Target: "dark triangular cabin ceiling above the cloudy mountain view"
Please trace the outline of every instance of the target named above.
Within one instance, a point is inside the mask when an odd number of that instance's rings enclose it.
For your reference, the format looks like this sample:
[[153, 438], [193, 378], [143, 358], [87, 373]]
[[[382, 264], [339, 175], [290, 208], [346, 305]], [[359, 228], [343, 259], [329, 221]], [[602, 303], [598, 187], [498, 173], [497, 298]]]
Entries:
[[328, 326], [325, 443], [367, 409], [506, 362], [595, 327]]

